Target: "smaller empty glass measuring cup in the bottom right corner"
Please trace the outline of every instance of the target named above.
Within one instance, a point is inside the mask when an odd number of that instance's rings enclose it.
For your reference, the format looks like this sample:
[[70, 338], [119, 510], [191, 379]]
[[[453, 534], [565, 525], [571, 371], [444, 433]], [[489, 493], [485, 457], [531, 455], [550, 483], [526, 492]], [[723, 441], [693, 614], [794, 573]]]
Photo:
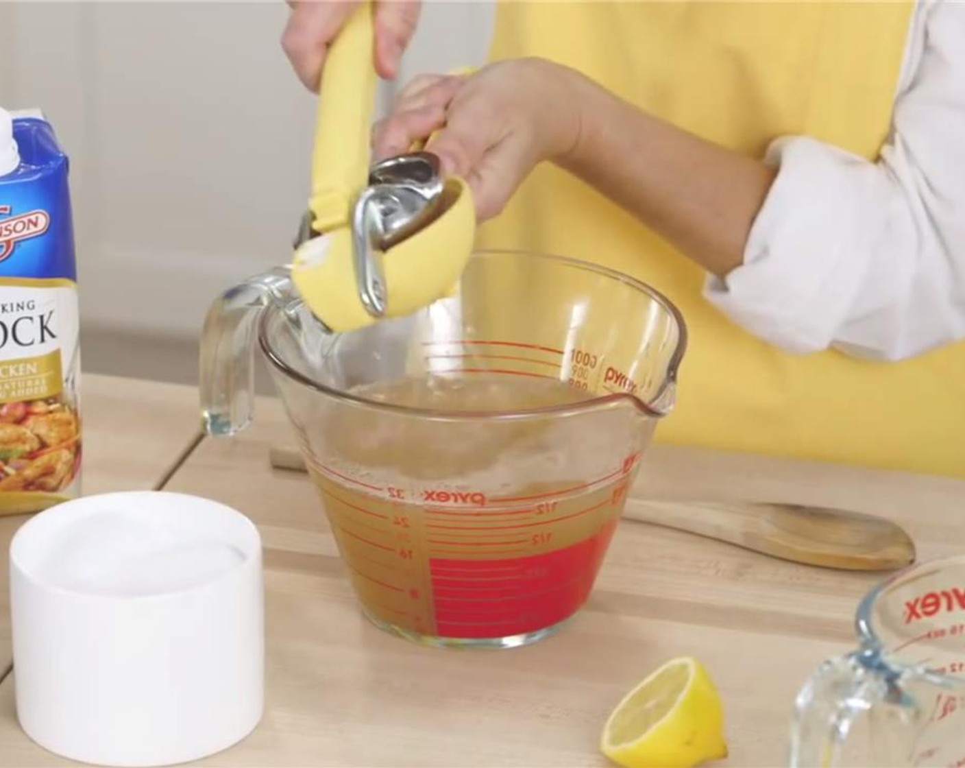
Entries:
[[855, 630], [797, 697], [791, 766], [965, 765], [965, 556], [875, 586]]

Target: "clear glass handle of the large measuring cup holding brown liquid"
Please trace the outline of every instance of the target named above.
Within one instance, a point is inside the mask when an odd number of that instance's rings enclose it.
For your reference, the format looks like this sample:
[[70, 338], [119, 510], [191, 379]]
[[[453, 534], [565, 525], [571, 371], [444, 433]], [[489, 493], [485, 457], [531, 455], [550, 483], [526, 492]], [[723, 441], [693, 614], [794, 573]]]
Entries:
[[208, 435], [231, 436], [255, 414], [255, 341], [262, 309], [293, 298], [290, 268], [279, 267], [225, 291], [201, 332], [199, 390]]

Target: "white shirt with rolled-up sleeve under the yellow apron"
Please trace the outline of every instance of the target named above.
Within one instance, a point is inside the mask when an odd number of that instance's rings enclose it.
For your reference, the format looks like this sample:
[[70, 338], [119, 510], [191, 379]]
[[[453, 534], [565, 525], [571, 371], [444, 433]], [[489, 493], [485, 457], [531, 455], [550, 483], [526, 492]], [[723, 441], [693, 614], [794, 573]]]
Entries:
[[965, 337], [965, 2], [919, 0], [880, 160], [786, 136], [766, 161], [744, 263], [709, 301], [791, 353], [897, 360]]

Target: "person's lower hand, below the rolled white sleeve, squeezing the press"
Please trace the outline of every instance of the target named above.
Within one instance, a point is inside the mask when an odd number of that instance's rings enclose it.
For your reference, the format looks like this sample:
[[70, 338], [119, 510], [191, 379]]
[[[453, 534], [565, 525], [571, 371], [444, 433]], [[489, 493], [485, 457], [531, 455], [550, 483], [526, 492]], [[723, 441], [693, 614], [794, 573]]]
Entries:
[[585, 78], [542, 59], [514, 59], [473, 74], [421, 75], [374, 127], [376, 157], [426, 139], [443, 172], [466, 180], [479, 220], [491, 218], [543, 160], [558, 161], [580, 138]]

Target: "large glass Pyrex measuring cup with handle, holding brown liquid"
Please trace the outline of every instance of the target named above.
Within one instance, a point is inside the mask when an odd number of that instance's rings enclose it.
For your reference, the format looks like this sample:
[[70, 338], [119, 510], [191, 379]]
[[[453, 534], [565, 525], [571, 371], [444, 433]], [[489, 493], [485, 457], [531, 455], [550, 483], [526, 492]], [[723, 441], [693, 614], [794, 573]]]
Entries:
[[477, 253], [449, 298], [334, 334], [275, 270], [209, 311], [213, 435], [252, 416], [255, 335], [362, 611], [500, 647], [587, 600], [685, 347], [670, 301], [564, 258]]

